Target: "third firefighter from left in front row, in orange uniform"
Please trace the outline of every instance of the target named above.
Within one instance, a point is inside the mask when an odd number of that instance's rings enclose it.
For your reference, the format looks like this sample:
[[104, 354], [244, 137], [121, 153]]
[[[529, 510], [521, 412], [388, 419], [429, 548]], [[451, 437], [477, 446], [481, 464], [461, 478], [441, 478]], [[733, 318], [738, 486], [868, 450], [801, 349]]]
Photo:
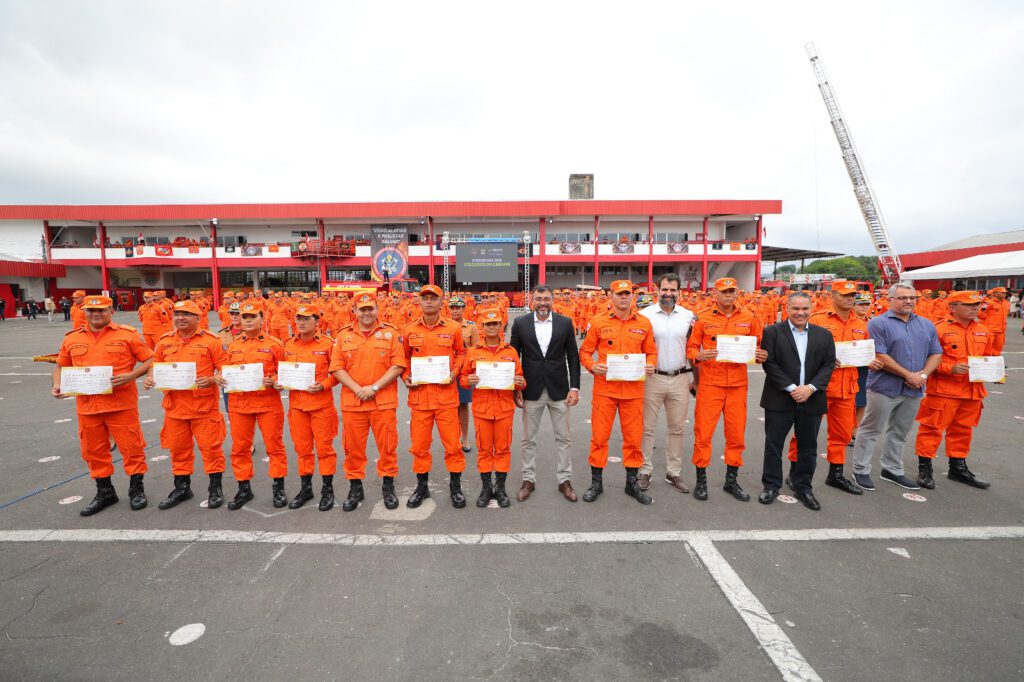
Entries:
[[[263, 366], [263, 386], [260, 390], [231, 392], [227, 396], [227, 412], [231, 422], [231, 470], [239, 481], [239, 492], [227, 503], [228, 509], [241, 509], [253, 499], [253, 438], [259, 425], [267, 457], [273, 506], [288, 504], [285, 476], [288, 475], [288, 454], [285, 451], [285, 409], [281, 393], [274, 389], [278, 363], [284, 356], [284, 345], [263, 333], [263, 308], [258, 302], [242, 304], [242, 330], [245, 332], [227, 346], [229, 365], [260, 363]], [[227, 382], [220, 379], [221, 386]]]

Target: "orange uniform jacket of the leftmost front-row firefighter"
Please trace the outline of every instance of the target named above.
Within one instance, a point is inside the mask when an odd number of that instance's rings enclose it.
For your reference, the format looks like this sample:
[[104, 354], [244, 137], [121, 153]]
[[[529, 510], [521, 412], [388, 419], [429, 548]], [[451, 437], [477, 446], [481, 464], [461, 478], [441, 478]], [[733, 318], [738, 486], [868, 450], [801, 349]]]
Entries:
[[[151, 357], [153, 351], [142, 343], [134, 327], [111, 323], [99, 334], [93, 334], [88, 327], [68, 332], [57, 351], [57, 366], [113, 367], [114, 376], [118, 376]], [[134, 410], [138, 407], [138, 387], [131, 381], [106, 395], [79, 395], [75, 404], [79, 415]]]

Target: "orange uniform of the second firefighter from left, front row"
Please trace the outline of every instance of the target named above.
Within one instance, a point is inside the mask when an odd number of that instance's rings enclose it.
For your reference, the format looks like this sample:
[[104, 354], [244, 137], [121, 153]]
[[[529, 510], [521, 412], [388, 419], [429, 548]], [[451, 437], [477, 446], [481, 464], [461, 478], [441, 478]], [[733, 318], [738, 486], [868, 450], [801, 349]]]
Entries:
[[[227, 363], [220, 339], [210, 332], [198, 330], [187, 339], [178, 332], [169, 332], [157, 341], [156, 363], [196, 363], [196, 378], [212, 377]], [[165, 391], [164, 428], [160, 444], [171, 453], [171, 473], [190, 476], [196, 456], [193, 443], [203, 456], [203, 471], [207, 474], [224, 471], [224, 416], [217, 407], [217, 386], [193, 390]]]

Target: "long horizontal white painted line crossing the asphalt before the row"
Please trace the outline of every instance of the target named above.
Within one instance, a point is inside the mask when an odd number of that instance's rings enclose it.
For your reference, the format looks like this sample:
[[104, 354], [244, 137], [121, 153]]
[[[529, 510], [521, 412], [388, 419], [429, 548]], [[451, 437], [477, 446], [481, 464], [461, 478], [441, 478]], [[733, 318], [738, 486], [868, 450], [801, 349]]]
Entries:
[[[249, 507], [244, 507], [249, 509]], [[270, 517], [289, 513], [265, 514]], [[393, 517], [391, 517], [393, 518]], [[389, 519], [390, 520], [390, 519]], [[0, 543], [214, 543], [252, 545], [343, 545], [352, 547], [438, 547], [465, 545], [608, 545], [723, 542], [820, 542], [847, 540], [1021, 540], [1024, 525], [901, 528], [799, 528], [776, 530], [639, 530], [608, 532], [492, 532], [452, 535], [347, 535], [271, 530], [156, 528], [38, 528], [0, 530]]]

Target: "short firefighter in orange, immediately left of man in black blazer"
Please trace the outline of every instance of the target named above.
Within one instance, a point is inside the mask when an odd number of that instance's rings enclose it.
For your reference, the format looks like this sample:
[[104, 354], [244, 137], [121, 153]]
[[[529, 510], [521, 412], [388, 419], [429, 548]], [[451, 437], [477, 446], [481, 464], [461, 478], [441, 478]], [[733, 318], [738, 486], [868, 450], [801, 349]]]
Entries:
[[[526, 386], [522, 376], [522, 365], [515, 348], [505, 343], [502, 335], [502, 312], [498, 308], [485, 310], [480, 317], [483, 327], [483, 343], [470, 348], [462, 366], [460, 383], [473, 388], [480, 383], [477, 368], [485, 363], [513, 363], [515, 375], [513, 385], [508, 389], [476, 388], [473, 401], [473, 429], [476, 431], [476, 466], [480, 472], [480, 496], [477, 507], [486, 507], [494, 497], [499, 507], [511, 504], [505, 491], [505, 480], [512, 463], [512, 420], [516, 407], [522, 407], [522, 394]], [[494, 483], [492, 484], [492, 472]]]

